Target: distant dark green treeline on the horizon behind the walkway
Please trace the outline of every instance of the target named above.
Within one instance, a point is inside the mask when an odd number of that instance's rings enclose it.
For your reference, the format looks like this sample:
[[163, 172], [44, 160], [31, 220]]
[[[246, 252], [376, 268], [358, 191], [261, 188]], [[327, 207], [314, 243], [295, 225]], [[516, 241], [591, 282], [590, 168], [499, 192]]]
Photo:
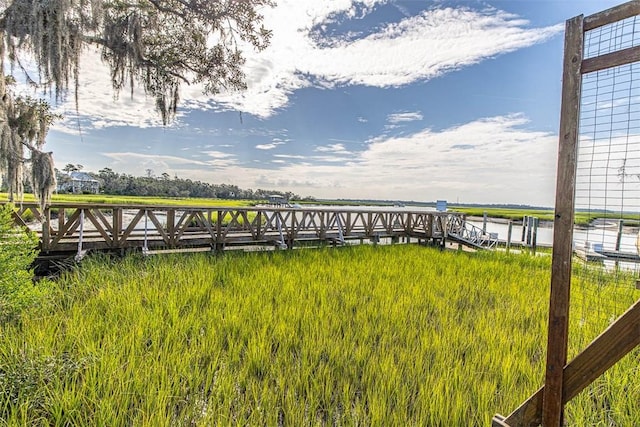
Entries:
[[[177, 176], [172, 178], [168, 173], [154, 176], [148, 171], [147, 176], [133, 176], [115, 172], [111, 168], [100, 169], [97, 173], [86, 173], [100, 182], [100, 193], [104, 194], [245, 200], [262, 200], [267, 199], [269, 195], [278, 194], [288, 200], [302, 200], [299, 195], [291, 191], [242, 189], [231, 184], [210, 184]], [[69, 179], [68, 171], [58, 171], [57, 178], [58, 183]]]

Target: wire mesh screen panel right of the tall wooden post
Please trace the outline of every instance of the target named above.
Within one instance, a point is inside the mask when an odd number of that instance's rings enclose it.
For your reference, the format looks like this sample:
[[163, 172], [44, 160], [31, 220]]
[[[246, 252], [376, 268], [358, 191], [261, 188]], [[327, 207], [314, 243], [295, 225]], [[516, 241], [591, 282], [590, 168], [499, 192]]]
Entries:
[[[584, 58], [640, 44], [639, 24], [638, 17], [632, 17], [587, 31]], [[582, 323], [606, 325], [638, 296], [638, 62], [582, 76], [575, 206], [574, 244], [579, 261], [573, 268], [578, 286], [572, 286], [572, 309]], [[593, 304], [586, 301], [598, 298], [594, 312]], [[587, 306], [588, 310], [580, 308]]]

